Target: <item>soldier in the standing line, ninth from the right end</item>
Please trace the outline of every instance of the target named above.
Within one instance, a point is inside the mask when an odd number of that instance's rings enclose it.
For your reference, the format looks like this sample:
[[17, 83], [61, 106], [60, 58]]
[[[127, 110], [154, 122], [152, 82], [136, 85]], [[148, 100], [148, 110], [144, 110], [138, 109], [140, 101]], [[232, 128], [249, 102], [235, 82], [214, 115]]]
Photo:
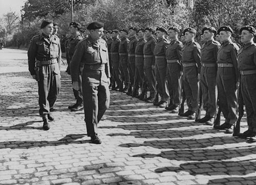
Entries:
[[137, 45], [136, 34], [138, 32], [137, 28], [131, 27], [130, 29], [130, 37], [128, 44], [128, 69], [130, 74], [130, 84], [127, 91], [127, 95], [132, 95], [132, 87], [134, 87], [134, 77], [135, 77], [135, 48]]

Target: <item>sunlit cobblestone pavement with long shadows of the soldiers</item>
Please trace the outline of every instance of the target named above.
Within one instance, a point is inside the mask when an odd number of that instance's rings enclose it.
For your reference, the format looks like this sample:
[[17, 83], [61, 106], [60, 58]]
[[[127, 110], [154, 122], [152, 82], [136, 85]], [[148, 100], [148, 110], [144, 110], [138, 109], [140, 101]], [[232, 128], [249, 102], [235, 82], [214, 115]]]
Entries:
[[0, 50], [0, 66], [0, 184], [256, 184], [255, 143], [116, 91], [91, 144], [66, 66], [44, 131], [26, 51]]

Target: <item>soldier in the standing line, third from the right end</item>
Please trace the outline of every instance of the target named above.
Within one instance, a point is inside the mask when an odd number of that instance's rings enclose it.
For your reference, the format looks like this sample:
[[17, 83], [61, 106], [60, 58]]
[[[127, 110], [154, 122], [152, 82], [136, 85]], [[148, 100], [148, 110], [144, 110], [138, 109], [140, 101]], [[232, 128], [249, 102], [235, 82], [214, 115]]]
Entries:
[[202, 119], [198, 119], [198, 122], [213, 125], [216, 114], [217, 54], [220, 44], [214, 40], [214, 35], [217, 33], [214, 27], [205, 27], [202, 33], [204, 34], [205, 43], [201, 49], [202, 68], [200, 83], [202, 87], [203, 107], [206, 114]]

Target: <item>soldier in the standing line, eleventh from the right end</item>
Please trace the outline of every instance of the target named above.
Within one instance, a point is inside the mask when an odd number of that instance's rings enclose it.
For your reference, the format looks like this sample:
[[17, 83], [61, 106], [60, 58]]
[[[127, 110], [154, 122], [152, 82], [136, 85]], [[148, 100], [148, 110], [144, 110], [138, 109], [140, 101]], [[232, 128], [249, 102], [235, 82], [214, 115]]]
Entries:
[[113, 30], [112, 31], [112, 38], [113, 41], [111, 43], [111, 48], [110, 48], [110, 54], [111, 54], [111, 60], [113, 64], [113, 70], [114, 70], [114, 78], [116, 81], [117, 86], [112, 86], [112, 90], [119, 90], [121, 88], [121, 72], [120, 72], [120, 64], [119, 64], [119, 44], [120, 44], [120, 39], [119, 39], [119, 34], [120, 32], [118, 30]]

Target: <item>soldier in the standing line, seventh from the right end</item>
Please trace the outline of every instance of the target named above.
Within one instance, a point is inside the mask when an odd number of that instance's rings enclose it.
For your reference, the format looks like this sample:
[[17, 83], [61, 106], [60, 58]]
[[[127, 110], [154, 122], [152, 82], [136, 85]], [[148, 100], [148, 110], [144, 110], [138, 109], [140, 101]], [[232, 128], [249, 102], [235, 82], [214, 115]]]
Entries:
[[[150, 89], [150, 97], [147, 98], [147, 103], [153, 103], [156, 98], [156, 77], [155, 77], [155, 56], [154, 49], [156, 46], [156, 39], [153, 36], [154, 30], [152, 28], [145, 28], [146, 43], [143, 47], [143, 68], [146, 77], [148, 88]], [[144, 97], [144, 95], [142, 94]]]

